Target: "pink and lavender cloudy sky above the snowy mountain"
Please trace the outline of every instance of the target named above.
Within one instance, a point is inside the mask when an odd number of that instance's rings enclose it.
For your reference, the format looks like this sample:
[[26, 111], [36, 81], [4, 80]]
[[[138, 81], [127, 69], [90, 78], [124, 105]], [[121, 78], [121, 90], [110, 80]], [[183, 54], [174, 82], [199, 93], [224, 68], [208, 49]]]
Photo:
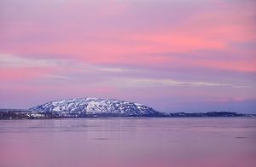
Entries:
[[256, 112], [255, 30], [253, 0], [2, 0], [0, 107]]

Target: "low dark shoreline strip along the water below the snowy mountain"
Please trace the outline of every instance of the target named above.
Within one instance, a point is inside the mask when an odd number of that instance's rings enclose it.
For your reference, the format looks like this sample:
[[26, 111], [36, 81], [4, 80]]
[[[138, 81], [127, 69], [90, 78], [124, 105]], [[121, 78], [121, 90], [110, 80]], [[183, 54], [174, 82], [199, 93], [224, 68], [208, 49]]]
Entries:
[[207, 118], [207, 117], [256, 117], [256, 114], [237, 112], [160, 112], [157, 115], [122, 115], [111, 113], [90, 112], [33, 112], [24, 109], [0, 109], [0, 119], [42, 119], [42, 118], [110, 118], [110, 117], [137, 117], [137, 118]]

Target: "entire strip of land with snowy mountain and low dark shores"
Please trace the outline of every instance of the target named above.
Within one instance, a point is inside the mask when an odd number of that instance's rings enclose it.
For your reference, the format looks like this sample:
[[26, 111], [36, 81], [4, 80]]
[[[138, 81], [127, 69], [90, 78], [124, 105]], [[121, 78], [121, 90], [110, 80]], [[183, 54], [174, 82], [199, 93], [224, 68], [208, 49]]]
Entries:
[[97, 117], [255, 117], [236, 112], [158, 112], [137, 102], [96, 97], [49, 101], [28, 110], [0, 109], [0, 119]]

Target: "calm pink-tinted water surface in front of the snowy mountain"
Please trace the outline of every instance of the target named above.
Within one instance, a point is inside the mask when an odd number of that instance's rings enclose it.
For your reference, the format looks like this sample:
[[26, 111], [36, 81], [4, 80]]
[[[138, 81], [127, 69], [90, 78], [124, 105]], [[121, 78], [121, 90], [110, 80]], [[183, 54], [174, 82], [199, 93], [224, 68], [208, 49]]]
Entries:
[[0, 120], [0, 167], [255, 167], [256, 118]]

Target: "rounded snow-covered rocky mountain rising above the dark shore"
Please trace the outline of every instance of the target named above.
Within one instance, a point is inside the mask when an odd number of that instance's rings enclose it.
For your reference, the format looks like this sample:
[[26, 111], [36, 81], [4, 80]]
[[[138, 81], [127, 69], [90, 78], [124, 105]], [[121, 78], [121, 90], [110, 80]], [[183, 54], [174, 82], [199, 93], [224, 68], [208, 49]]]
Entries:
[[151, 107], [142, 104], [113, 99], [77, 98], [65, 101], [51, 101], [44, 105], [32, 107], [31, 112], [45, 112], [56, 117], [90, 117], [90, 116], [160, 116]]

